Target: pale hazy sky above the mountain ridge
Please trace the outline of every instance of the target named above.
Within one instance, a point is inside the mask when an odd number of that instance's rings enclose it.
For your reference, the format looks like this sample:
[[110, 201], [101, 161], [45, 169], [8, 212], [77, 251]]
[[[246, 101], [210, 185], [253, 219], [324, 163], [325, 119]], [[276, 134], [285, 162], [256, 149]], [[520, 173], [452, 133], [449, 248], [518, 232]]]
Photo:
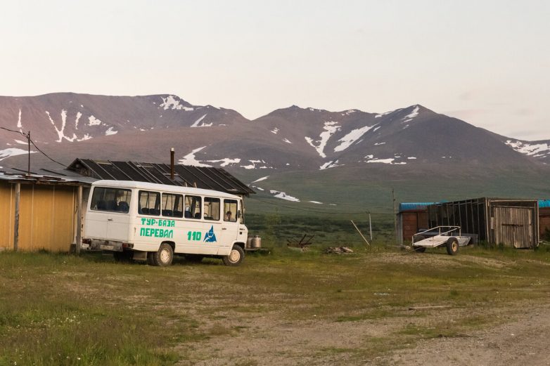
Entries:
[[550, 139], [550, 1], [8, 1], [0, 95], [172, 93], [254, 119], [421, 104]]

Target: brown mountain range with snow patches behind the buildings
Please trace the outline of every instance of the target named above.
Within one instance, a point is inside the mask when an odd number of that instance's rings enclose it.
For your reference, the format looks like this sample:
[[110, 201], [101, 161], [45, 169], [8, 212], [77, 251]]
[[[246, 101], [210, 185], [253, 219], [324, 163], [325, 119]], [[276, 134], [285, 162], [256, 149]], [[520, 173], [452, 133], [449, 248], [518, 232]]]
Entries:
[[[221, 166], [250, 183], [279, 177], [279, 187], [260, 189], [289, 200], [283, 176], [307, 187], [329, 176], [360, 183], [372, 174], [429, 181], [430, 175], [451, 177], [453, 171], [461, 177], [519, 170], [546, 177], [550, 171], [550, 140], [500, 136], [422, 105], [383, 113], [293, 105], [249, 120], [235, 110], [192, 105], [169, 94], [51, 93], [0, 96], [0, 127], [4, 169], [26, 168], [27, 141], [13, 131], [30, 131], [37, 148], [62, 164], [76, 157], [167, 162], [175, 148], [180, 164]], [[56, 165], [39, 153], [32, 161]]]

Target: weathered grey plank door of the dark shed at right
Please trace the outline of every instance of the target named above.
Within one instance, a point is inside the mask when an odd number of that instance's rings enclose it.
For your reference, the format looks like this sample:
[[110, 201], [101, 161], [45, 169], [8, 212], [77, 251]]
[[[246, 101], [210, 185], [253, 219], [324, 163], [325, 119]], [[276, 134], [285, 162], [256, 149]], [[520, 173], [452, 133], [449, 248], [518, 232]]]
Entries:
[[514, 248], [532, 247], [532, 209], [495, 207], [494, 239]]

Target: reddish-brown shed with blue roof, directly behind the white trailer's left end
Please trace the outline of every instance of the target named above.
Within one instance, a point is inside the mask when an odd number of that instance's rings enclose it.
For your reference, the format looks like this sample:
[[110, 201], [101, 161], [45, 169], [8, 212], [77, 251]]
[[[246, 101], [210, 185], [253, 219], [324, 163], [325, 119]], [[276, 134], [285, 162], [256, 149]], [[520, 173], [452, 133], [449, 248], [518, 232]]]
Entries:
[[397, 244], [411, 242], [421, 229], [428, 229], [428, 206], [433, 202], [404, 202], [397, 214]]

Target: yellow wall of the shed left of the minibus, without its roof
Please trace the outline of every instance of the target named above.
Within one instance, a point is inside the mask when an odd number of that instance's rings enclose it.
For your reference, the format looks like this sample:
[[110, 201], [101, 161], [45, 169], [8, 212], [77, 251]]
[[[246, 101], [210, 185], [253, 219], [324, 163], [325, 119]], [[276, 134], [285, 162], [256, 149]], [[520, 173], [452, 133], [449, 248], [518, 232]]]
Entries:
[[[69, 251], [75, 237], [77, 187], [21, 184], [19, 243], [22, 251]], [[0, 248], [13, 249], [15, 185], [0, 182]]]

